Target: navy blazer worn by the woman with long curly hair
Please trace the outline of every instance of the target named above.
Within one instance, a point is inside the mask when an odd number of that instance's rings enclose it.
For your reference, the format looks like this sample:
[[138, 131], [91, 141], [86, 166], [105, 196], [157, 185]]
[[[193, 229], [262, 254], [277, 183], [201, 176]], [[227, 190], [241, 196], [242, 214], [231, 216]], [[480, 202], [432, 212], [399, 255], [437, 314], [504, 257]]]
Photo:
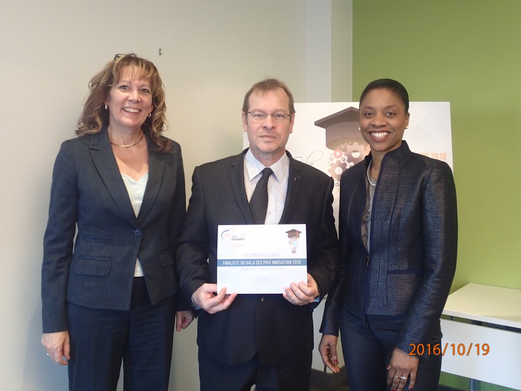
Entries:
[[146, 141], [148, 181], [138, 217], [106, 128], [61, 144], [44, 237], [45, 333], [67, 329], [66, 301], [128, 310], [138, 257], [152, 303], [176, 294], [174, 263], [186, 204], [181, 149], [172, 141], [165, 153], [148, 136]]

